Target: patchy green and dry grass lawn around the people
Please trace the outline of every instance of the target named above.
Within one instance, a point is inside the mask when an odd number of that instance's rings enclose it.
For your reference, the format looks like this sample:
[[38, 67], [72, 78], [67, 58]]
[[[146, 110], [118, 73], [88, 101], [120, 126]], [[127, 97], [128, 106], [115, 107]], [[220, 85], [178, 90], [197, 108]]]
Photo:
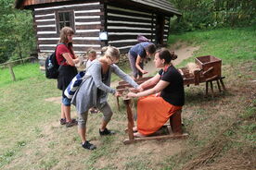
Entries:
[[[193, 57], [215, 55], [223, 60], [227, 91], [205, 97], [204, 84], [186, 87], [183, 109], [186, 140], [143, 141], [124, 145], [124, 105], [101, 138], [101, 114], [89, 115], [87, 138], [96, 151], [85, 151], [76, 128], [59, 125], [60, 101], [55, 79], [45, 79], [37, 64], [0, 70], [0, 169], [253, 169], [256, 167], [256, 30], [255, 28], [194, 31], [170, 35], [169, 44], [199, 45]], [[116, 80], [114, 78], [113, 80]], [[217, 88], [214, 87], [216, 90]], [[50, 100], [49, 100], [50, 99]], [[54, 99], [54, 100], [51, 100]], [[53, 102], [49, 102], [53, 101]], [[122, 102], [121, 102], [122, 103]], [[75, 108], [71, 115], [76, 117]]]

